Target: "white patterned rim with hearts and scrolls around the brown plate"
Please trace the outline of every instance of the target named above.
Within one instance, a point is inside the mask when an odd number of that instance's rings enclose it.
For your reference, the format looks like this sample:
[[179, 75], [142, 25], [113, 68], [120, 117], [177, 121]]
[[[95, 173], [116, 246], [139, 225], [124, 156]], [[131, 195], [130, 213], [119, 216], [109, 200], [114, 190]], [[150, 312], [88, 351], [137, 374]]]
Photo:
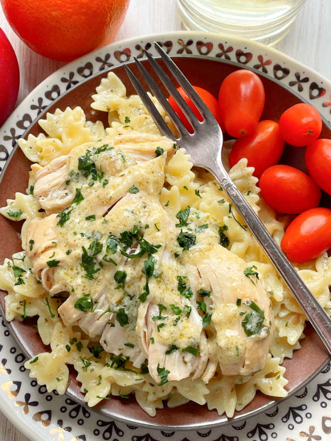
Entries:
[[[331, 84], [317, 73], [280, 52], [253, 42], [225, 39], [216, 34], [172, 32], [118, 42], [64, 66], [37, 86], [3, 124], [0, 131], [0, 172], [17, 140], [30, 123], [52, 101], [73, 86], [105, 69], [141, 58], [143, 49], [156, 54], [156, 40], [170, 55], [220, 59], [257, 71], [279, 81], [301, 99], [310, 102], [330, 124]], [[329, 98], [330, 97], [330, 98]], [[2, 329], [2, 331], [1, 331]], [[104, 420], [66, 396], [47, 393], [28, 377], [25, 356], [2, 321], [0, 332], [0, 408], [30, 438], [36, 440], [131, 440], [131, 441], [286, 441], [327, 440], [331, 435], [330, 363], [298, 395], [275, 407], [271, 413], [251, 417], [242, 423], [200, 431], [156, 431]], [[5, 410], [6, 408], [6, 410]], [[19, 421], [20, 420], [20, 421]]]

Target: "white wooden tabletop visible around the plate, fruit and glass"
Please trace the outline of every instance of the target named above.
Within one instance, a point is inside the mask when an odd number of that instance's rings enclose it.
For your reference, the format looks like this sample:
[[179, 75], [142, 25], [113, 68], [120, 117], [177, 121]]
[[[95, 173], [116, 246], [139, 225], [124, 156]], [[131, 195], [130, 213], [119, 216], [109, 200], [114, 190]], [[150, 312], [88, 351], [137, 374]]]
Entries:
[[[331, 76], [331, 0], [308, 0], [277, 49], [327, 78]], [[19, 104], [44, 78], [64, 63], [36, 54], [17, 37], [0, 11], [0, 27], [14, 47], [21, 69]], [[175, 0], [131, 0], [126, 19], [115, 39], [181, 29]], [[0, 414], [0, 441], [27, 441]]]

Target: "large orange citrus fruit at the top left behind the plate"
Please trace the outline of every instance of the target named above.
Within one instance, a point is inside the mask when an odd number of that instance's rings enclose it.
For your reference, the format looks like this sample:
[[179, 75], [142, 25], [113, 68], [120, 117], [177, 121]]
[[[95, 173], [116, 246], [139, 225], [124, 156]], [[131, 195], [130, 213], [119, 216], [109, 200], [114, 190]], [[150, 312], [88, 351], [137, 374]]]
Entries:
[[17, 35], [33, 50], [71, 61], [115, 38], [129, 0], [1, 0]]

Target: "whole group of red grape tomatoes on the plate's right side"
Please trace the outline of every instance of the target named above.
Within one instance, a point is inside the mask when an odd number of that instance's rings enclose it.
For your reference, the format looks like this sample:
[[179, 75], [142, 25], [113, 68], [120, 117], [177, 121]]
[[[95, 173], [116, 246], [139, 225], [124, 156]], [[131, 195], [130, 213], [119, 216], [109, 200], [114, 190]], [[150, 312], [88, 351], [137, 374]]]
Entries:
[[[265, 101], [262, 81], [254, 72], [240, 69], [222, 82], [218, 100], [201, 87], [193, 86], [220, 124], [222, 131], [236, 138], [229, 156], [233, 167], [247, 158], [259, 178], [263, 199], [278, 213], [296, 216], [287, 226], [281, 249], [293, 262], [307, 262], [331, 248], [331, 209], [319, 207], [321, 189], [331, 195], [331, 139], [318, 139], [322, 120], [309, 104], [300, 103], [285, 110], [279, 123], [259, 121]], [[179, 87], [197, 118], [198, 109]], [[193, 129], [172, 97], [169, 103], [185, 127]], [[278, 164], [284, 144], [306, 147], [309, 173]]]

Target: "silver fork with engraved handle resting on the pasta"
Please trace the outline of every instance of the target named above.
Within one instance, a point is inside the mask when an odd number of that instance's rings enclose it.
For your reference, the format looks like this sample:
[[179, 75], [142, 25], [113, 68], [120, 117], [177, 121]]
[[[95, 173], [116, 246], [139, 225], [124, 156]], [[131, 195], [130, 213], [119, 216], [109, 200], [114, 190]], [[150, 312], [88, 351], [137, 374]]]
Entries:
[[146, 50], [145, 54], [148, 57], [154, 72], [157, 74], [161, 82], [165, 85], [169, 94], [175, 99], [181, 110], [184, 112], [186, 118], [192, 125], [194, 132], [189, 133], [184, 124], [179, 120], [176, 112], [170, 106], [168, 100], [162, 94], [150, 73], [148, 73], [142, 63], [134, 57], [134, 61], [136, 62], [140, 73], [144, 77], [154, 97], [157, 98], [171, 121], [177, 127], [179, 138], [174, 136], [167, 124], [164, 122], [163, 118], [153, 104], [153, 101], [148, 96], [136, 76], [130, 71], [127, 65], [124, 65], [127, 75], [137, 91], [137, 94], [142, 99], [160, 132], [168, 138], [174, 140], [180, 146], [185, 147], [188, 153], [191, 155], [194, 165], [203, 167], [211, 172], [220, 183], [225, 193], [229, 196], [234, 207], [238, 210], [239, 214], [246, 222], [246, 225], [252, 231], [256, 240], [264, 249], [275, 268], [278, 270], [289, 290], [297, 299], [307, 318], [310, 320], [322, 342], [325, 344], [329, 353], [331, 354], [331, 319], [322, 306], [318, 303], [313, 294], [311, 294], [311, 292], [308, 290], [297, 271], [284, 256], [280, 250], [280, 247], [270, 236], [263, 223], [259, 220], [254, 210], [246, 201], [245, 197], [239, 192], [237, 187], [231, 181], [229, 174], [225, 170], [222, 163], [223, 134], [219, 124], [216, 122], [203, 100], [195, 92], [189, 81], [178, 69], [171, 58], [157, 43], [154, 42], [154, 46], [157, 52], [161, 55], [169, 71], [176, 78], [179, 85], [186, 92], [187, 96], [195, 104], [204, 119], [202, 122], [197, 119], [184, 99], [178, 93], [176, 86], [172, 83], [169, 76]]

